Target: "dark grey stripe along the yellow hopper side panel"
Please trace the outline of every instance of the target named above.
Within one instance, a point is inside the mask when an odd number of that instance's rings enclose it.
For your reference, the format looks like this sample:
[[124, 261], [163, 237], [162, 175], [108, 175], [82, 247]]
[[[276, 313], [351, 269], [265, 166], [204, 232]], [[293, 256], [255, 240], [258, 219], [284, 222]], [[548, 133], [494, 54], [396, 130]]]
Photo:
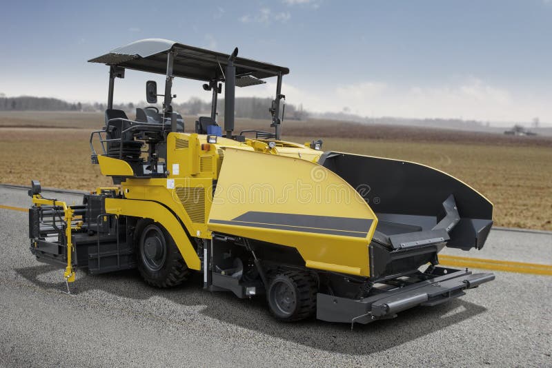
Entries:
[[265, 223], [270, 225], [315, 227], [346, 232], [368, 232], [372, 225], [369, 218], [350, 218], [335, 216], [315, 216], [302, 214], [280, 214], [274, 212], [249, 211], [233, 218], [233, 221], [246, 223]]

